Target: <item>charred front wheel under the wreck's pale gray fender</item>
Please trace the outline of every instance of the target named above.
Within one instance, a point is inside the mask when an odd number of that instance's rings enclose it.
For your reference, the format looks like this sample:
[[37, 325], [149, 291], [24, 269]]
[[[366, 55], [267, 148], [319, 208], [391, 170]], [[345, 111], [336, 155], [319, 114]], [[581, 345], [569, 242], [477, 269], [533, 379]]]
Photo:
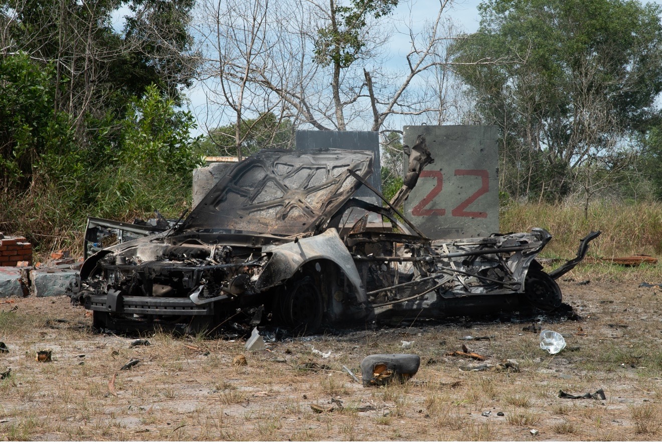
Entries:
[[324, 319], [322, 293], [312, 277], [304, 277], [285, 285], [279, 298], [281, 321], [297, 334], [312, 334], [320, 330]]

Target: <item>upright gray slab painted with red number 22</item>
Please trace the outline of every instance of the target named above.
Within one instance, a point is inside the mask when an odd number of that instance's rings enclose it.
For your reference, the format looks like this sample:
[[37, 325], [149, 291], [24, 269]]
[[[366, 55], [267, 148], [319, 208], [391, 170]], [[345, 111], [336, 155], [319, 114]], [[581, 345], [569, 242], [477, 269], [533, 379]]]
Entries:
[[414, 146], [419, 134], [425, 136], [434, 163], [405, 200], [405, 216], [433, 239], [497, 233], [496, 126], [405, 126], [404, 144]]

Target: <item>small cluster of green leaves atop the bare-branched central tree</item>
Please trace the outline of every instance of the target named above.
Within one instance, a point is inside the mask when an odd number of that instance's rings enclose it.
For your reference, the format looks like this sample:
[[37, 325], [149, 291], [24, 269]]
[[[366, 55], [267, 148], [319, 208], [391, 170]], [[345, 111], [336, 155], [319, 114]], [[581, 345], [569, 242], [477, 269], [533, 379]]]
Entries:
[[369, 17], [388, 15], [399, 0], [352, 0], [350, 5], [331, 2], [331, 21], [317, 30], [314, 56], [322, 66], [349, 67], [361, 54], [365, 41], [361, 31]]

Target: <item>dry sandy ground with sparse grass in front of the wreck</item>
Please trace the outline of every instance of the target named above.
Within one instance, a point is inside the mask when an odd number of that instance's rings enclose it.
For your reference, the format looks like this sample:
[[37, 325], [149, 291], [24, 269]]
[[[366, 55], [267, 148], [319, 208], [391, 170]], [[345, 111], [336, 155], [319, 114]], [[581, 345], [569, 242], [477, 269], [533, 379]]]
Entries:
[[[66, 296], [0, 300], [0, 341], [9, 349], [0, 373], [11, 368], [0, 381], [0, 437], [657, 441], [662, 289], [640, 283], [585, 271], [561, 281], [581, 319], [535, 320], [565, 337], [557, 355], [540, 349], [538, 333], [523, 330], [532, 322], [517, 315], [345, 330], [252, 353], [242, 339], [167, 333], [130, 347], [136, 337], [92, 332], [89, 313]], [[414, 343], [403, 350], [403, 340]], [[514, 359], [519, 371], [462, 371], [481, 364], [447, 355], [462, 345], [487, 363]], [[36, 361], [44, 349], [51, 362]], [[346, 365], [360, 378], [359, 363], [373, 353], [416, 353], [420, 370], [404, 384], [369, 388], [342, 371]], [[247, 365], [233, 364], [240, 354]], [[132, 359], [140, 361], [120, 370]], [[600, 388], [606, 400], [559, 398], [559, 390]]]

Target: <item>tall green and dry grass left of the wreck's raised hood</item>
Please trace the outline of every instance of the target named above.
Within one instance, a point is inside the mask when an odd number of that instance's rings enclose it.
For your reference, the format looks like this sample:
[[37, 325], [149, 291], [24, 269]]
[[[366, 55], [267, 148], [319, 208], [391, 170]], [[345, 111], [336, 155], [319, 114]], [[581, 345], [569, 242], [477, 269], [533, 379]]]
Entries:
[[0, 231], [25, 236], [35, 247], [34, 261], [58, 249], [82, 255], [87, 216], [133, 222], [159, 210], [177, 218], [191, 205], [190, 177], [175, 179], [122, 168], [101, 169], [85, 183], [36, 181], [23, 192], [0, 199]]

